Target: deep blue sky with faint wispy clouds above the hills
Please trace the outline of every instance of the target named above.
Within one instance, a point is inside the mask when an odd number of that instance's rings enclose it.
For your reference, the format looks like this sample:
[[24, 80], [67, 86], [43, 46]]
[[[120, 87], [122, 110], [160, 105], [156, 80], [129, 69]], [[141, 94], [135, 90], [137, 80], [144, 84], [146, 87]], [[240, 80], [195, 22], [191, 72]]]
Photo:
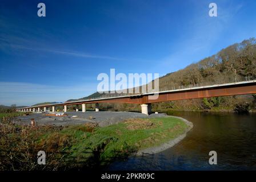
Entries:
[[[211, 2], [218, 17], [208, 15]], [[177, 71], [256, 37], [255, 8], [254, 0], [1, 1], [0, 104], [84, 97], [110, 68]]]

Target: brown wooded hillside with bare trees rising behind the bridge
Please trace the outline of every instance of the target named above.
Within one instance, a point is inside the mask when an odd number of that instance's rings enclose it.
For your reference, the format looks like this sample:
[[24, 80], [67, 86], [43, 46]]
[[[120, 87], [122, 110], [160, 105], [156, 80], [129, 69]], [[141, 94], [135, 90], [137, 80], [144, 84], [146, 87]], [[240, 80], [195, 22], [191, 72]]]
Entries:
[[[222, 49], [215, 55], [188, 65], [177, 72], [168, 73], [159, 78], [159, 88], [170, 89], [179, 86], [212, 85], [235, 81], [256, 79], [256, 39], [250, 38]], [[117, 93], [115, 93], [117, 95]], [[113, 96], [98, 92], [84, 97]], [[256, 96], [214, 97], [194, 100], [171, 101], [153, 104], [153, 110], [254, 110]], [[89, 105], [90, 107], [90, 105]], [[93, 107], [93, 106], [92, 106]], [[101, 104], [112, 110], [139, 110], [133, 104]]]

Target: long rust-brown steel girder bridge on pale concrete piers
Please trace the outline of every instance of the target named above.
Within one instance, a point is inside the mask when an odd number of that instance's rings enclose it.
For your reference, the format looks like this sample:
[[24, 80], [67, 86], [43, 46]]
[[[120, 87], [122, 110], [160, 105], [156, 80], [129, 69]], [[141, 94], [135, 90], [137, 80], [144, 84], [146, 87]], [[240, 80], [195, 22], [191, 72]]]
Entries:
[[[141, 94], [138, 96], [127, 96], [127, 97], [115, 97], [115, 98], [105, 98], [99, 100], [87, 100], [81, 102], [66, 102], [61, 104], [53, 104], [53, 105], [42, 105], [42, 106], [31, 106], [26, 107], [25, 111], [44, 107], [53, 107], [53, 111], [55, 110], [55, 106], [64, 106], [64, 111], [67, 110], [68, 105], [82, 105], [83, 111], [86, 111], [86, 104], [96, 104], [96, 111], [99, 111], [98, 104], [99, 103], [127, 103], [127, 104], [140, 104], [142, 107], [142, 113], [145, 114], [150, 112], [150, 104], [155, 102], [166, 102], [166, 101], [175, 101], [175, 100], [187, 100], [193, 98], [207, 98], [207, 97], [221, 97], [221, 96], [235, 96], [235, 95], [243, 95], [243, 94], [256, 94], [256, 82], [251, 82], [247, 84], [233, 84], [233, 85], [225, 85], [225, 86], [213, 86], [213, 87], [205, 87], [205, 88], [193, 88], [193, 89], [181, 89], [181, 90], [170, 90], [166, 92], [159, 92], [158, 97], [152, 100], [150, 95]], [[154, 96], [155, 97], [155, 96]], [[149, 105], [149, 108], [147, 108]], [[21, 109], [19, 109], [21, 110]], [[22, 109], [24, 110], [24, 109]], [[77, 109], [78, 111], [78, 109]], [[149, 112], [148, 112], [149, 111]]]

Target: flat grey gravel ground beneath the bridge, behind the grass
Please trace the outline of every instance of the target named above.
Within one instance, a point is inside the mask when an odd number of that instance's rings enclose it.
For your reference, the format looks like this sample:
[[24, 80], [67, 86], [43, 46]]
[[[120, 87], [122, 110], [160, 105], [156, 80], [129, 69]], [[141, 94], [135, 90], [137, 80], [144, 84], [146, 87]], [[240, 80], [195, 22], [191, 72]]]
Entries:
[[[118, 122], [122, 122], [128, 118], [155, 118], [164, 117], [165, 113], [145, 115], [142, 113], [133, 112], [114, 112], [114, 111], [86, 111], [86, 113], [79, 112], [67, 112], [65, 117], [46, 116], [45, 113], [34, 113], [31, 115], [20, 116], [15, 122], [30, 125], [31, 118], [35, 119], [37, 125], [78, 125], [87, 122], [96, 122], [99, 126], [113, 125]], [[76, 115], [77, 117], [72, 117]], [[90, 119], [93, 118], [93, 119]]]

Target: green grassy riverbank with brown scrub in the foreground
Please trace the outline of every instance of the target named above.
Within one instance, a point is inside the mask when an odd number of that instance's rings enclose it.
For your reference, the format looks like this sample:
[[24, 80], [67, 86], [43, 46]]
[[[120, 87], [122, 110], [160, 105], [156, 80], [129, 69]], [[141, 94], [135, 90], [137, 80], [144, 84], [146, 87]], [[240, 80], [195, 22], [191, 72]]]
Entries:
[[[94, 123], [67, 127], [1, 123], [0, 169], [66, 170], [99, 168], [143, 148], [158, 146], [182, 134], [178, 118], [128, 119], [107, 127]], [[37, 152], [45, 151], [45, 166]]]

